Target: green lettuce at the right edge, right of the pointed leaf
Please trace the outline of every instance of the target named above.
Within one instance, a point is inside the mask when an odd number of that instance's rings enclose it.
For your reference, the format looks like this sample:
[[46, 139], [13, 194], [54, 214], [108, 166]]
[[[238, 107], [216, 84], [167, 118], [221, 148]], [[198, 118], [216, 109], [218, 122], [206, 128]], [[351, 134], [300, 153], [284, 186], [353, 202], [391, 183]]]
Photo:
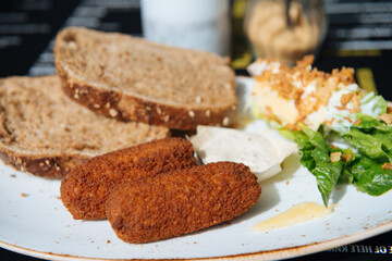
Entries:
[[392, 189], [392, 170], [382, 167], [392, 159], [392, 127], [364, 113], [357, 113], [356, 117], [359, 121], [342, 137], [358, 152], [344, 163], [339, 182], [353, 183], [364, 192], [380, 196]]

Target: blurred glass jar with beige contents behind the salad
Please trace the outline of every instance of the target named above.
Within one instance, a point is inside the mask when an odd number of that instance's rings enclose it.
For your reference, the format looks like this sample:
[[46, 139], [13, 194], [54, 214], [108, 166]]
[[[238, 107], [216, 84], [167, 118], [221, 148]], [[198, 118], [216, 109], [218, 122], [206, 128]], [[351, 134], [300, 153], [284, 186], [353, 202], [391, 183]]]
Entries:
[[256, 57], [294, 65], [326, 37], [322, 0], [249, 0], [244, 30]]

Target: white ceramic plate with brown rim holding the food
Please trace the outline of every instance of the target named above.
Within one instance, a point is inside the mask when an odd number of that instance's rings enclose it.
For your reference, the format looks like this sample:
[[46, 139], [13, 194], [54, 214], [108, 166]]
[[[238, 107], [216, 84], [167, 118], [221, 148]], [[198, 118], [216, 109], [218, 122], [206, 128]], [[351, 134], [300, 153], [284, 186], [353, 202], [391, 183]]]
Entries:
[[[250, 79], [238, 77], [241, 96]], [[265, 128], [262, 122], [249, 132]], [[259, 202], [229, 223], [157, 243], [133, 245], [117, 238], [107, 221], [75, 221], [60, 200], [60, 182], [0, 164], [0, 246], [51, 260], [91, 259], [284, 259], [351, 244], [392, 229], [392, 191], [371, 197], [353, 186], [332, 196], [332, 214], [274, 231], [254, 233], [256, 223], [313, 201], [322, 203], [315, 178], [292, 154], [283, 171], [261, 184]]]

